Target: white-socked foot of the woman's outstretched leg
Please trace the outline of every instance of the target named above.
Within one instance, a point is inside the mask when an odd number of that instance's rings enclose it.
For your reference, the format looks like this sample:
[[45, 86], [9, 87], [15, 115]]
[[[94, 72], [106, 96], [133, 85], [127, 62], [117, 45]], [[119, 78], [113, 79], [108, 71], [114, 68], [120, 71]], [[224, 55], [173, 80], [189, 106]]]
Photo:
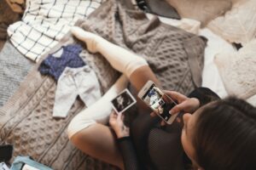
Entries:
[[102, 37], [91, 33], [89, 31], [84, 31], [78, 26], [73, 26], [71, 28], [71, 32], [75, 37], [77, 37], [79, 40], [86, 43], [87, 49], [90, 51], [90, 53], [96, 53], [97, 50], [97, 44], [102, 41]]

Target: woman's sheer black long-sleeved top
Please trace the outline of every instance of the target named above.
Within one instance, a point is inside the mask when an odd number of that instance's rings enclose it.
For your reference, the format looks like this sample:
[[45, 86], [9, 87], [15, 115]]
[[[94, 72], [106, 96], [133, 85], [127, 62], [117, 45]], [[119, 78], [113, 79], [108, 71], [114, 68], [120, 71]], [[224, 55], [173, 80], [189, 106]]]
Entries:
[[[196, 88], [189, 98], [199, 99], [201, 106], [219, 99], [208, 88]], [[181, 131], [182, 123], [173, 122], [172, 125], [160, 127], [160, 117], [139, 114], [131, 122], [131, 137], [118, 139], [125, 169], [185, 169], [191, 162], [183, 151]]]

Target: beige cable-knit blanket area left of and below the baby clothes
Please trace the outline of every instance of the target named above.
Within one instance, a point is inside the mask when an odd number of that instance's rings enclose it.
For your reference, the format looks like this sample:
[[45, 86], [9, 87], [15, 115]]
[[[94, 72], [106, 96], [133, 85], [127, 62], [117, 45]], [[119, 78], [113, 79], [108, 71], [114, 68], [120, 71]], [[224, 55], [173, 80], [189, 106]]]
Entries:
[[[65, 43], [59, 45], [52, 52]], [[115, 169], [92, 160], [69, 142], [67, 125], [84, 104], [77, 100], [66, 119], [54, 119], [56, 84], [53, 78], [41, 76], [38, 66], [33, 66], [20, 88], [0, 108], [0, 144], [14, 144], [14, 156], [32, 156], [56, 170]]]

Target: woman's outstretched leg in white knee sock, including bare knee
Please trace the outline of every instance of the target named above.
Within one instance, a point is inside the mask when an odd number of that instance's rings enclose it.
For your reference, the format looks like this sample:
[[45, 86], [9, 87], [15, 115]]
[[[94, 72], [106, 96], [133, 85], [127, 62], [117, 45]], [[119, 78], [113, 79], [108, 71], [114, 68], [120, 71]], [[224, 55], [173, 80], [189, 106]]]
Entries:
[[124, 73], [137, 90], [143, 88], [148, 80], [160, 85], [147, 61], [142, 57], [79, 27], [73, 27], [72, 32], [73, 35], [86, 43], [90, 52], [101, 53], [114, 69]]

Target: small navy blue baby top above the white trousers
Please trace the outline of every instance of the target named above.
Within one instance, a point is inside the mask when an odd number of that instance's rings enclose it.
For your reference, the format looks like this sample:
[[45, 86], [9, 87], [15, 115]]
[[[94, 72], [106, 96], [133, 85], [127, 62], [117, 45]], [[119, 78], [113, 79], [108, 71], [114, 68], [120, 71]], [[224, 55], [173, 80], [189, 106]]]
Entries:
[[85, 65], [84, 60], [79, 57], [83, 49], [80, 45], [72, 44], [62, 46], [61, 49], [62, 54], [60, 57], [55, 56], [58, 51], [55, 54], [49, 54], [39, 67], [41, 74], [49, 74], [54, 77], [56, 81], [67, 66], [70, 68], [79, 68]]

